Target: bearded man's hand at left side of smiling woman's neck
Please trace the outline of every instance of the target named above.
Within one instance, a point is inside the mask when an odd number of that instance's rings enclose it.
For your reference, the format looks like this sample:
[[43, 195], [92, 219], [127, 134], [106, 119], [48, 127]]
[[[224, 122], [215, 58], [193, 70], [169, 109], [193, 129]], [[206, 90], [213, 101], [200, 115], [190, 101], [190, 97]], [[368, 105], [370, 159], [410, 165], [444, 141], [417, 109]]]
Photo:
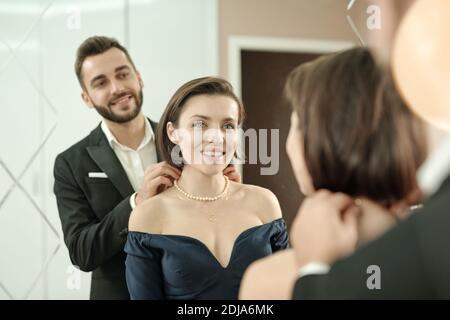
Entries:
[[180, 176], [181, 171], [165, 161], [149, 166], [145, 170], [142, 187], [136, 194], [136, 205], [171, 187], [173, 180], [180, 178]]

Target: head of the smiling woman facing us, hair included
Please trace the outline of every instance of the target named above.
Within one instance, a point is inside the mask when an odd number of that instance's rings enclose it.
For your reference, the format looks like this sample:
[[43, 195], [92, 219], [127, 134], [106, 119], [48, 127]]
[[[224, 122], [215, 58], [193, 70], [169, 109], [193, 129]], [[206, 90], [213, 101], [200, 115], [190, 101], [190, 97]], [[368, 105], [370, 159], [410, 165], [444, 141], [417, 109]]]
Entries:
[[231, 162], [244, 108], [224, 79], [204, 77], [182, 85], [159, 122], [157, 146], [164, 160], [216, 174]]

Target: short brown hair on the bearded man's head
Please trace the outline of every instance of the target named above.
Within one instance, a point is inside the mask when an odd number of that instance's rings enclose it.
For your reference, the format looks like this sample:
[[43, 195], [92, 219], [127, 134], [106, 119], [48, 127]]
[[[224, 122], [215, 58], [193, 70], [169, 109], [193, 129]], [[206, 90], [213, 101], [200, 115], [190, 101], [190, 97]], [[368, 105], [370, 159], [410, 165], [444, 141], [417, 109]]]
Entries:
[[84, 60], [86, 60], [86, 58], [90, 56], [102, 54], [111, 48], [117, 48], [125, 53], [128, 62], [130, 62], [130, 64], [133, 66], [134, 71], [136, 71], [136, 67], [134, 66], [133, 60], [131, 60], [128, 50], [124, 46], [122, 46], [119, 41], [114, 38], [104, 36], [89, 37], [84, 40], [83, 43], [78, 47], [77, 57], [75, 60], [75, 74], [77, 75], [78, 82], [83, 89], [85, 89], [85, 86], [83, 83], [83, 75], [81, 73], [81, 69], [83, 67]]

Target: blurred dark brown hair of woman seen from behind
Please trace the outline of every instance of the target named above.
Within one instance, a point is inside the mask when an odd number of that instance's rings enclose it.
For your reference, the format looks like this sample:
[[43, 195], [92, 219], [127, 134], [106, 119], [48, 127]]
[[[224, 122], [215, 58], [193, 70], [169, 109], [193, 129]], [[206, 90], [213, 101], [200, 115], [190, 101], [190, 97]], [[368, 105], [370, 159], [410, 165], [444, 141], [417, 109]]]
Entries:
[[288, 76], [285, 95], [298, 115], [316, 190], [385, 205], [416, 190], [427, 152], [423, 124], [367, 49], [300, 65]]

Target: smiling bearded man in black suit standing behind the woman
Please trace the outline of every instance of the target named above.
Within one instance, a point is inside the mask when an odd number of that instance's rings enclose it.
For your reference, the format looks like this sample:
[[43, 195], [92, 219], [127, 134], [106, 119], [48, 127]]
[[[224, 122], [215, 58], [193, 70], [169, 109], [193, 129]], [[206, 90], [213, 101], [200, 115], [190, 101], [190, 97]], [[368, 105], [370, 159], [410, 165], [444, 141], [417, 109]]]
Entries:
[[[181, 172], [159, 162], [156, 123], [142, 111], [143, 81], [128, 51], [95, 36], [77, 51], [82, 99], [102, 122], [55, 160], [54, 192], [71, 261], [93, 271], [91, 299], [129, 299], [125, 282], [132, 209], [172, 186]], [[239, 180], [234, 168], [224, 172]]]

